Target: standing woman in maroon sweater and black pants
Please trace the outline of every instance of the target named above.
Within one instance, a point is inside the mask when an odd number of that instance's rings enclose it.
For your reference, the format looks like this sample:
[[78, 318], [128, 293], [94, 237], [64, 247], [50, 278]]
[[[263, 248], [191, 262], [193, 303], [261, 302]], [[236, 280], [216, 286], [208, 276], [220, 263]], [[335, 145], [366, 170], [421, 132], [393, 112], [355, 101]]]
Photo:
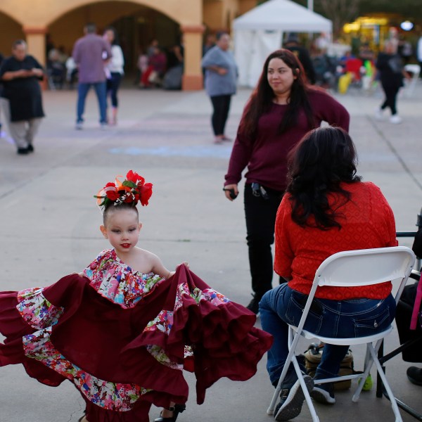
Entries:
[[286, 49], [271, 53], [243, 111], [224, 183], [226, 197], [233, 200], [248, 167], [244, 200], [253, 290], [248, 309], [255, 314], [262, 295], [272, 287], [271, 244], [286, 188], [288, 152], [323, 121], [349, 129], [347, 110], [325, 91], [307, 84], [293, 53]]

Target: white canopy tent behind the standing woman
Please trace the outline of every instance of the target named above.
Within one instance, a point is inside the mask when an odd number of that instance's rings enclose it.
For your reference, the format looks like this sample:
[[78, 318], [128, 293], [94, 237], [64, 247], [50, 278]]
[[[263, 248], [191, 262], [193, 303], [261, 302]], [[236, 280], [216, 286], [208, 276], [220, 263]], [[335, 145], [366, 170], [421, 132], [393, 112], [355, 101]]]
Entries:
[[331, 33], [331, 20], [290, 0], [269, 0], [234, 20], [234, 56], [238, 83], [255, 87], [262, 65], [281, 48], [283, 32]]

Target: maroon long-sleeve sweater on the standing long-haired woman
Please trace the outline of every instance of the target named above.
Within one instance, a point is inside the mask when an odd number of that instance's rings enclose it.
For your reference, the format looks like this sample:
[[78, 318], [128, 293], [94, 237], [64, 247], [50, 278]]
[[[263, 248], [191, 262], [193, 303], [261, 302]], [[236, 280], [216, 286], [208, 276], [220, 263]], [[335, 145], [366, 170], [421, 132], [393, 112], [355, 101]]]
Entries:
[[[315, 127], [325, 121], [349, 130], [349, 113], [332, 96], [325, 91], [311, 89], [308, 98]], [[224, 185], [238, 184], [243, 170], [248, 166], [246, 183], [257, 182], [276, 191], [286, 189], [288, 152], [309, 131], [305, 111], [301, 110], [294, 127], [289, 127], [283, 134], [277, 133], [287, 107], [273, 103], [269, 112], [260, 117], [254, 140], [242, 134], [241, 129], [238, 130]]]

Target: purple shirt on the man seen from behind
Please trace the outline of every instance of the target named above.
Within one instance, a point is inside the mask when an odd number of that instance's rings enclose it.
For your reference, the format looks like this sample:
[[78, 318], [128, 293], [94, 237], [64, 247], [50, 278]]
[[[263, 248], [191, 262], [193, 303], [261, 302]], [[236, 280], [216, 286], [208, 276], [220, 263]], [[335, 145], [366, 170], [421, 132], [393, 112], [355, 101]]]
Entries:
[[106, 80], [104, 60], [110, 58], [112, 54], [110, 44], [105, 39], [97, 34], [87, 34], [79, 38], [73, 48], [72, 56], [79, 68], [79, 82], [93, 83]]

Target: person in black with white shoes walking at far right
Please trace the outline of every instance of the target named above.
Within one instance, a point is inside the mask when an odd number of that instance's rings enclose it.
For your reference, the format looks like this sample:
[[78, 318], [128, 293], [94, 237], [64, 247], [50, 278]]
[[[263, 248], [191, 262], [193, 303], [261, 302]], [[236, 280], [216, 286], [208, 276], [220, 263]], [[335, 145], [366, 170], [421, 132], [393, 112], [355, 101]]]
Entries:
[[403, 63], [402, 58], [397, 54], [397, 47], [392, 41], [386, 41], [384, 52], [378, 54], [376, 68], [379, 72], [381, 86], [383, 87], [385, 100], [380, 107], [375, 110], [377, 120], [383, 120], [383, 110], [390, 108], [390, 122], [393, 124], [401, 123], [402, 117], [397, 113], [397, 94], [403, 87]]

